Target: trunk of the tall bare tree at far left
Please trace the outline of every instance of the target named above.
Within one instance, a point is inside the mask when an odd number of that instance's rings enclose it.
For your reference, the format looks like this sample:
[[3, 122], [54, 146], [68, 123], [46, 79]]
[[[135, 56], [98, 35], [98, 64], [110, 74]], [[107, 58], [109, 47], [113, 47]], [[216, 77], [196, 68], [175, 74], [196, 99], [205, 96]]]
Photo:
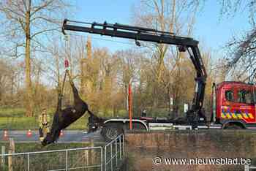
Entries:
[[31, 85], [31, 58], [30, 58], [30, 7], [31, 1], [29, 1], [29, 9], [26, 12], [26, 50], [25, 50], [25, 64], [26, 64], [26, 116], [33, 116], [33, 91]]

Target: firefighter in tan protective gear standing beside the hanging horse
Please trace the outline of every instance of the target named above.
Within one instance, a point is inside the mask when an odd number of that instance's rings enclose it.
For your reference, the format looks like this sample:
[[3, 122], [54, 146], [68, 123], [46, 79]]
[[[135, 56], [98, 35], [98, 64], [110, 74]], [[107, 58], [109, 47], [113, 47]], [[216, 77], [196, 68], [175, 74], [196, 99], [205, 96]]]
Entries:
[[42, 142], [47, 133], [50, 132], [49, 129], [50, 116], [46, 113], [46, 109], [42, 109], [42, 113], [39, 115], [39, 139]]

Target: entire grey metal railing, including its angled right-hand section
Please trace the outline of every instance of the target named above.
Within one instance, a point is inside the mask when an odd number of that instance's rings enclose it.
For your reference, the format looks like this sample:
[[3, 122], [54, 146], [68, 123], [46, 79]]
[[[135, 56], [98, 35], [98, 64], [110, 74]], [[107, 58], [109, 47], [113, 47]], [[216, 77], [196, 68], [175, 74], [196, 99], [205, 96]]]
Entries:
[[[104, 150], [104, 159], [103, 159]], [[114, 170], [124, 159], [124, 134], [101, 147], [0, 154], [0, 170]], [[3, 163], [4, 161], [4, 163]]]

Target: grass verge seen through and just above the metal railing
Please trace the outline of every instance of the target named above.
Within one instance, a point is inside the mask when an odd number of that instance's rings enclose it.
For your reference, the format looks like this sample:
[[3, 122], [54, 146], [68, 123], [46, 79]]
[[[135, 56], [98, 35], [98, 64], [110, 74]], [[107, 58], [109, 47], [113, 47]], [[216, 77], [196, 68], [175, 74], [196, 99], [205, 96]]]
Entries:
[[[102, 144], [101, 144], [102, 145]], [[9, 150], [7, 143], [1, 143], [0, 146], [5, 146], [6, 151]], [[16, 143], [15, 153], [34, 152], [34, 151], [53, 151], [69, 148], [85, 148], [90, 147], [89, 143], [57, 143], [54, 145], [48, 145], [42, 147], [39, 143]], [[99, 144], [94, 144], [99, 146]], [[89, 150], [91, 151], [91, 150]], [[99, 164], [100, 151], [94, 150], [92, 153], [89, 151], [78, 150], [68, 152], [68, 167], [83, 167], [91, 164]], [[86, 153], [88, 152], [88, 153]], [[30, 153], [29, 154], [29, 167], [31, 170], [56, 170], [62, 169], [65, 166], [66, 153], [62, 152], [50, 152], [50, 153]], [[92, 159], [93, 158], [93, 159]], [[4, 167], [0, 166], [0, 170], [8, 170], [8, 158], [4, 158]], [[12, 156], [13, 170], [26, 170], [28, 164], [28, 156], [18, 155]], [[95, 169], [98, 170], [98, 169]]]

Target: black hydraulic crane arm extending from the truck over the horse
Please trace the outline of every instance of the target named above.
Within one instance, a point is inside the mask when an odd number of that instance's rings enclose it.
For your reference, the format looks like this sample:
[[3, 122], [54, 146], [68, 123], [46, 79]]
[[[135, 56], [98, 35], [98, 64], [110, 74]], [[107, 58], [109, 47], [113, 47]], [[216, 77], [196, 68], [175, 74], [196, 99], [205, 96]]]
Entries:
[[[71, 24], [73, 23], [73, 24]], [[84, 25], [84, 26], [81, 26]], [[156, 43], [165, 43], [168, 45], [177, 45], [178, 50], [188, 51], [189, 58], [195, 66], [197, 76], [195, 77], [195, 96], [192, 103], [192, 109], [189, 114], [201, 113], [203, 107], [203, 98], [206, 85], [206, 69], [198, 48], [198, 41], [189, 37], [177, 37], [173, 33], [158, 31], [151, 28], [138, 26], [127, 26], [122, 24], [110, 23], [85, 23], [74, 20], [64, 20], [62, 32], [65, 30], [87, 32], [90, 34], [100, 34], [110, 37], [121, 37], [126, 39], [135, 39], [135, 41], [147, 41]], [[194, 117], [195, 118], [195, 117]]]

